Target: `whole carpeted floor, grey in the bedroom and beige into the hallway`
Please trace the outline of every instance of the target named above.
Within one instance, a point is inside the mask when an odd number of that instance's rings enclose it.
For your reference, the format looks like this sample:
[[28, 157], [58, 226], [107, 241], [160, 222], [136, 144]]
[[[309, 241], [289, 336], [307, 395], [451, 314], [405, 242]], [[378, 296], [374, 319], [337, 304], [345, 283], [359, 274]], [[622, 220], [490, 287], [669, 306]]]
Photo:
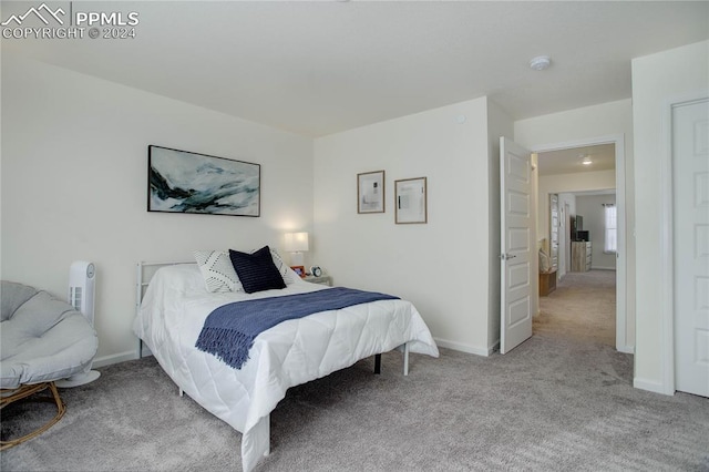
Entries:
[[[381, 376], [369, 358], [289, 389], [255, 472], [709, 471], [709, 400], [634, 389], [633, 356], [593, 340], [613, 338], [613, 310], [599, 315], [609, 275], [565, 279], [543, 299], [546, 322], [507, 355], [412, 355], [404, 377], [388, 352]], [[0, 470], [242, 470], [242, 435], [179, 397], [152, 357], [61, 394], [62, 421], [2, 451]], [[3, 409], [0, 437], [41, 424], [42, 407]]]

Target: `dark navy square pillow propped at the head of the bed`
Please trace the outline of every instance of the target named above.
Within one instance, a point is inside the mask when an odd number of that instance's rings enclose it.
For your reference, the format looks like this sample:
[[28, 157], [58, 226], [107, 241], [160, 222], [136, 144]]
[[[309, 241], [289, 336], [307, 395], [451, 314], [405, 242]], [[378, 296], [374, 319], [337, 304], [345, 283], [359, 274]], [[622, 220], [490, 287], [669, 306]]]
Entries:
[[286, 283], [274, 264], [268, 246], [251, 254], [229, 249], [229, 259], [247, 294], [286, 288]]

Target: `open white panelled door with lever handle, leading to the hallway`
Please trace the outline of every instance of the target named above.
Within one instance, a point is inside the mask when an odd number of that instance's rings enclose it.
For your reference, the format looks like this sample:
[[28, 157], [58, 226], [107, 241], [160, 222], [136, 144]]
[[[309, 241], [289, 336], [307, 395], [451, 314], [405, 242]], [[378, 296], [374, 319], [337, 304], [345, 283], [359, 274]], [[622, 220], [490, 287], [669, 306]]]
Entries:
[[530, 151], [500, 138], [501, 328], [500, 352], [532, 336], [532, 158]]

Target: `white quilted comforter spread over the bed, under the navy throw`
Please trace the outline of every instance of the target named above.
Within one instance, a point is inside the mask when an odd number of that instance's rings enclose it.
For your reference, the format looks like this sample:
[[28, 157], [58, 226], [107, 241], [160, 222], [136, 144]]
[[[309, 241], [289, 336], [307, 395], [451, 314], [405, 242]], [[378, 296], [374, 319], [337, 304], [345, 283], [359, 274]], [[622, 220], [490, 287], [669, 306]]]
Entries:
[[[224, 304], [328, 289], [294, 278], [282, 290], [209, 294], [196, 265], [164, 267], [151, 280], [133, 324], [135, 335], [173, 381], [243, 433], [245, 471], [268, 451], [269, 414], [289, 387], [403, 343], [411, 352], [439, 355], [429, 328], [405, 300], [380, 300], [281, 322], [256, 338], [249, 360], [238, 370], [195, 348], [206, 317]], [[257, 425], [266, 444], [257, 438]]]

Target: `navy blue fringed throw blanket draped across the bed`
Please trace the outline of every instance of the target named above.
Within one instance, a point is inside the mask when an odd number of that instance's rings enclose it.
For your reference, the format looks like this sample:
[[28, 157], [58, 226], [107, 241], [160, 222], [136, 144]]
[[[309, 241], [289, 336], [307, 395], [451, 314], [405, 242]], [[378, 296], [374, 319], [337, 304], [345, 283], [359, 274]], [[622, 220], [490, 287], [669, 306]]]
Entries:
[[235, 301], [223, 305], [209, 314], [195, 346], [235, 369], [240, 369], [248, 360], [248, 351], [254, 346], [254, 339], [279, 322], [318, 311], [339, 310], [353, 305], [398, 298], [376, 291], [335, 287], [308, 294]]

